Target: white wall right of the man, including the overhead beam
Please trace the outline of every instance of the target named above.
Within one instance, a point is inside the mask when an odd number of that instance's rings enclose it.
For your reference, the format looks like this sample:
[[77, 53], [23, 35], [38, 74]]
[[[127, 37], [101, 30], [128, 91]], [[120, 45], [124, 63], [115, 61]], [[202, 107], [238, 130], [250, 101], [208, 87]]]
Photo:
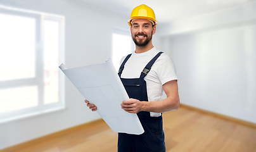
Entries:
[[160, 28], [162, 47], [176, 65], [181, 103], [256, 123], [255, 6]]

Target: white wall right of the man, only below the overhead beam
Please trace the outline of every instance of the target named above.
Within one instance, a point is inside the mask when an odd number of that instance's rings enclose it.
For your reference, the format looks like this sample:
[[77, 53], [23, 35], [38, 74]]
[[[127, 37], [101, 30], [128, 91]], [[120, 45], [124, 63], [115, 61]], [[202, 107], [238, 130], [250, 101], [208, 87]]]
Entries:
[[172, 37], [181, 103], [256, 123], [256, 25]]

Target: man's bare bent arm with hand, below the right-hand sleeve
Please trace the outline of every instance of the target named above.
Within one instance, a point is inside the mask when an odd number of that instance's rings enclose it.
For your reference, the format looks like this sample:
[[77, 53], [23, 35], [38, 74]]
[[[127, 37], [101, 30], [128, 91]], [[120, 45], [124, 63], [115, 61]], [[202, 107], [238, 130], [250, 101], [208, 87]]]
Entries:
[[177, 80], [171, 80], [163, 84], [163, 91], [165, 91], [165, 94], [167, 95], [166, 99], [148, 102], [131, 98], [130, 100], [122, 102], [122, 109], [129, 113], [138, 113], [139, 111], [162, 113], [177, 110], [179, 108]]

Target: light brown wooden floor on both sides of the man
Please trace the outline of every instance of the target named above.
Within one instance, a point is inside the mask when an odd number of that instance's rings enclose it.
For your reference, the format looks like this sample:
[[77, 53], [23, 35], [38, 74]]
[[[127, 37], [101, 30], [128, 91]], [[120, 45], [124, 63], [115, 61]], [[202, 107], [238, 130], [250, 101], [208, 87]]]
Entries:
[[[163, 113], [167, 152], [256, 152], [256, 128], [180, 107]], [[99, 120], [0, 152], [111, 152], [117, 133]]]

